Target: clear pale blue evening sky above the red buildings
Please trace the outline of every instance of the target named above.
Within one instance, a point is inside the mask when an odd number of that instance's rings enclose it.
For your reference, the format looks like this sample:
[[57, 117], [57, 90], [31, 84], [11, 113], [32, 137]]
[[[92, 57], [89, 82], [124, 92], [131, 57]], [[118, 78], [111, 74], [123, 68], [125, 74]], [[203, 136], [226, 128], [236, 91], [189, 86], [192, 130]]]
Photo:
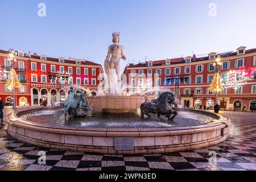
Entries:
[[[38, 16], [40, 2], [46, 17]], [[216, 3], [216, 17], [208, 15], [209, 3]], [[103, 64], [114, 31], [130, 63], [255, 48], [255, 6], [255, 0], [0, 0], [0, 49]]]

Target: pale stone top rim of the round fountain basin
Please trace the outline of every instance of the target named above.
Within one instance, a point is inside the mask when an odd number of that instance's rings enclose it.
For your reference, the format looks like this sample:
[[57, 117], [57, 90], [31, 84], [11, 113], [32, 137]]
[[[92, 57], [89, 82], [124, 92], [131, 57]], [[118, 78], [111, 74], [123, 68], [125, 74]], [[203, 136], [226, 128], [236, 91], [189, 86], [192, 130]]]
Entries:
[[[188, 109], [190, 111], [192, 111], [193, 113], [199, 113], [199, 114], [203, 114], [203, 115], [208, 115], [210, 117], [215, 117], [218, 119], [212, 119], [209, 123], [205, 123], [203, 125], [196, 125], [196, 126], [170, 126], [170, 127], [130, 127], [130, 128], [115, 128], [115, 127], [107, 127], [107, 128], [102, 128], [102, 127], [81, 127], [81, 126], [58, 126], [58, 125], [47, 125], [47, 124], [40, 124], [40, 123], [36, 123], [36, 122], [32, 122], [29, 120], [25, 120], [25, 119], [20, 119], [19, 117], [24, 115], [24, 114], [28, 114], [28, 113], [32, 113], [35, 111], [43, 111], [46, 109], [62, 109], [63, 106], [57, 106], [57, 107], [39, 107], [36, 109], [24, 109], [21, 111], [15, 111], [14, 113], [11, 113], [7, 116], [7, 123], [9, 125], [22, 125], [23, 127], [27, 125], [27, 128], [30, 129], [32, 127], [32, 129], [40, 129], [40, 131], [49, 131], [49, 130], [55, 130], [55, 132], [57, 130], [69, 130], [72, 131], [99, 131], [99, 132], [114, 132], [114, 131], [118, 131], [118, 132], [136, 132], [136, 131], [176, 131], [176, 130], [196, 130], [196, 129], [207, 129], [210, 127], [216, 127], [219, 125], [223, 125], [223, 124], [228, 124], [230, 122], [230, 119], [228, 117], [223, 117], [221, 114], [217, 114], [217, 113], [212, 113], [209, 111], [203, 111], [203, 110], [193, 110], [193, 109]], [[31, 126], [31, 127], [30, 127]], [[154, 134], [152, 134], [154, 135]]]

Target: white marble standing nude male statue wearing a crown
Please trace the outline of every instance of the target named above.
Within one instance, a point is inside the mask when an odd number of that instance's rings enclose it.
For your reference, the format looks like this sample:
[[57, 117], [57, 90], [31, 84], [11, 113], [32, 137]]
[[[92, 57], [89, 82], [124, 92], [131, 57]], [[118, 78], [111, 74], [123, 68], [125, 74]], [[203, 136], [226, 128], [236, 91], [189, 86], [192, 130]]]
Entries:
[[106, 87], [109, 88], [109, 92], [115, 93], [115, 76], [117, 74], [118, 86], [121, 86], [121, 72], [120, 72], [120, 59], [126, 60], [124, 55], [123, 46], [119, 44], [120, 42], [120, 33], [113, 33], [112, 42], [114, 44], [109, 46], [108, 56], [105, 59], [105, 73], [108, 75], [108, 80], [106, 80]]

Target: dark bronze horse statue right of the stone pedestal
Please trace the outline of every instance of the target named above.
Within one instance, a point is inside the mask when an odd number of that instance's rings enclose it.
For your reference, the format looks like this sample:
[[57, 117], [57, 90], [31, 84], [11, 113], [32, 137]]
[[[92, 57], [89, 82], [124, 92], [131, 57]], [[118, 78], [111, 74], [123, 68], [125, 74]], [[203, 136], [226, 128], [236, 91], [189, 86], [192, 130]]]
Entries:
[[[144, 114], [151, 117], [149, 113], [154, 113], [158, 114], [158, 118], [160, 118], [160, 115], [166, 115], [168, 121], [173, 121], [177, 115], [177, 111], [174, 111], [170, 104], [176, 104], [175, 96], [171, 92], [164, 92], [154, 102], [141, 104], [141, 118], [144, 119]], [[171, 117], [172, 114], [174, 115]]]

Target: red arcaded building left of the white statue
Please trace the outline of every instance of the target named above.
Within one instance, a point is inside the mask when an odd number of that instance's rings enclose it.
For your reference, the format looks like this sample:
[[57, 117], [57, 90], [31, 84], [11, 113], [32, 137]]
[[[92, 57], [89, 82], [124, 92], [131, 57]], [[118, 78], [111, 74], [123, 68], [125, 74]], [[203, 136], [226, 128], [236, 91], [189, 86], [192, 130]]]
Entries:
[[[9, 53], [0, 50], [0, 97], [7, 103], [11, 101], [6, 86], [11, 65]], [[71, 85], [97, 91], [97, 76], [103, 72], [100, 64], [91, 61], [31, 55], [23, 51], [15, 51], [14, 60], [14, 69], [22, 84], [15, 88], [17, 106], [40, 105], [40, 98], [47, 98], [47, 105], [51, 105], [54, 94], [57, 102], [64, 101]]]

